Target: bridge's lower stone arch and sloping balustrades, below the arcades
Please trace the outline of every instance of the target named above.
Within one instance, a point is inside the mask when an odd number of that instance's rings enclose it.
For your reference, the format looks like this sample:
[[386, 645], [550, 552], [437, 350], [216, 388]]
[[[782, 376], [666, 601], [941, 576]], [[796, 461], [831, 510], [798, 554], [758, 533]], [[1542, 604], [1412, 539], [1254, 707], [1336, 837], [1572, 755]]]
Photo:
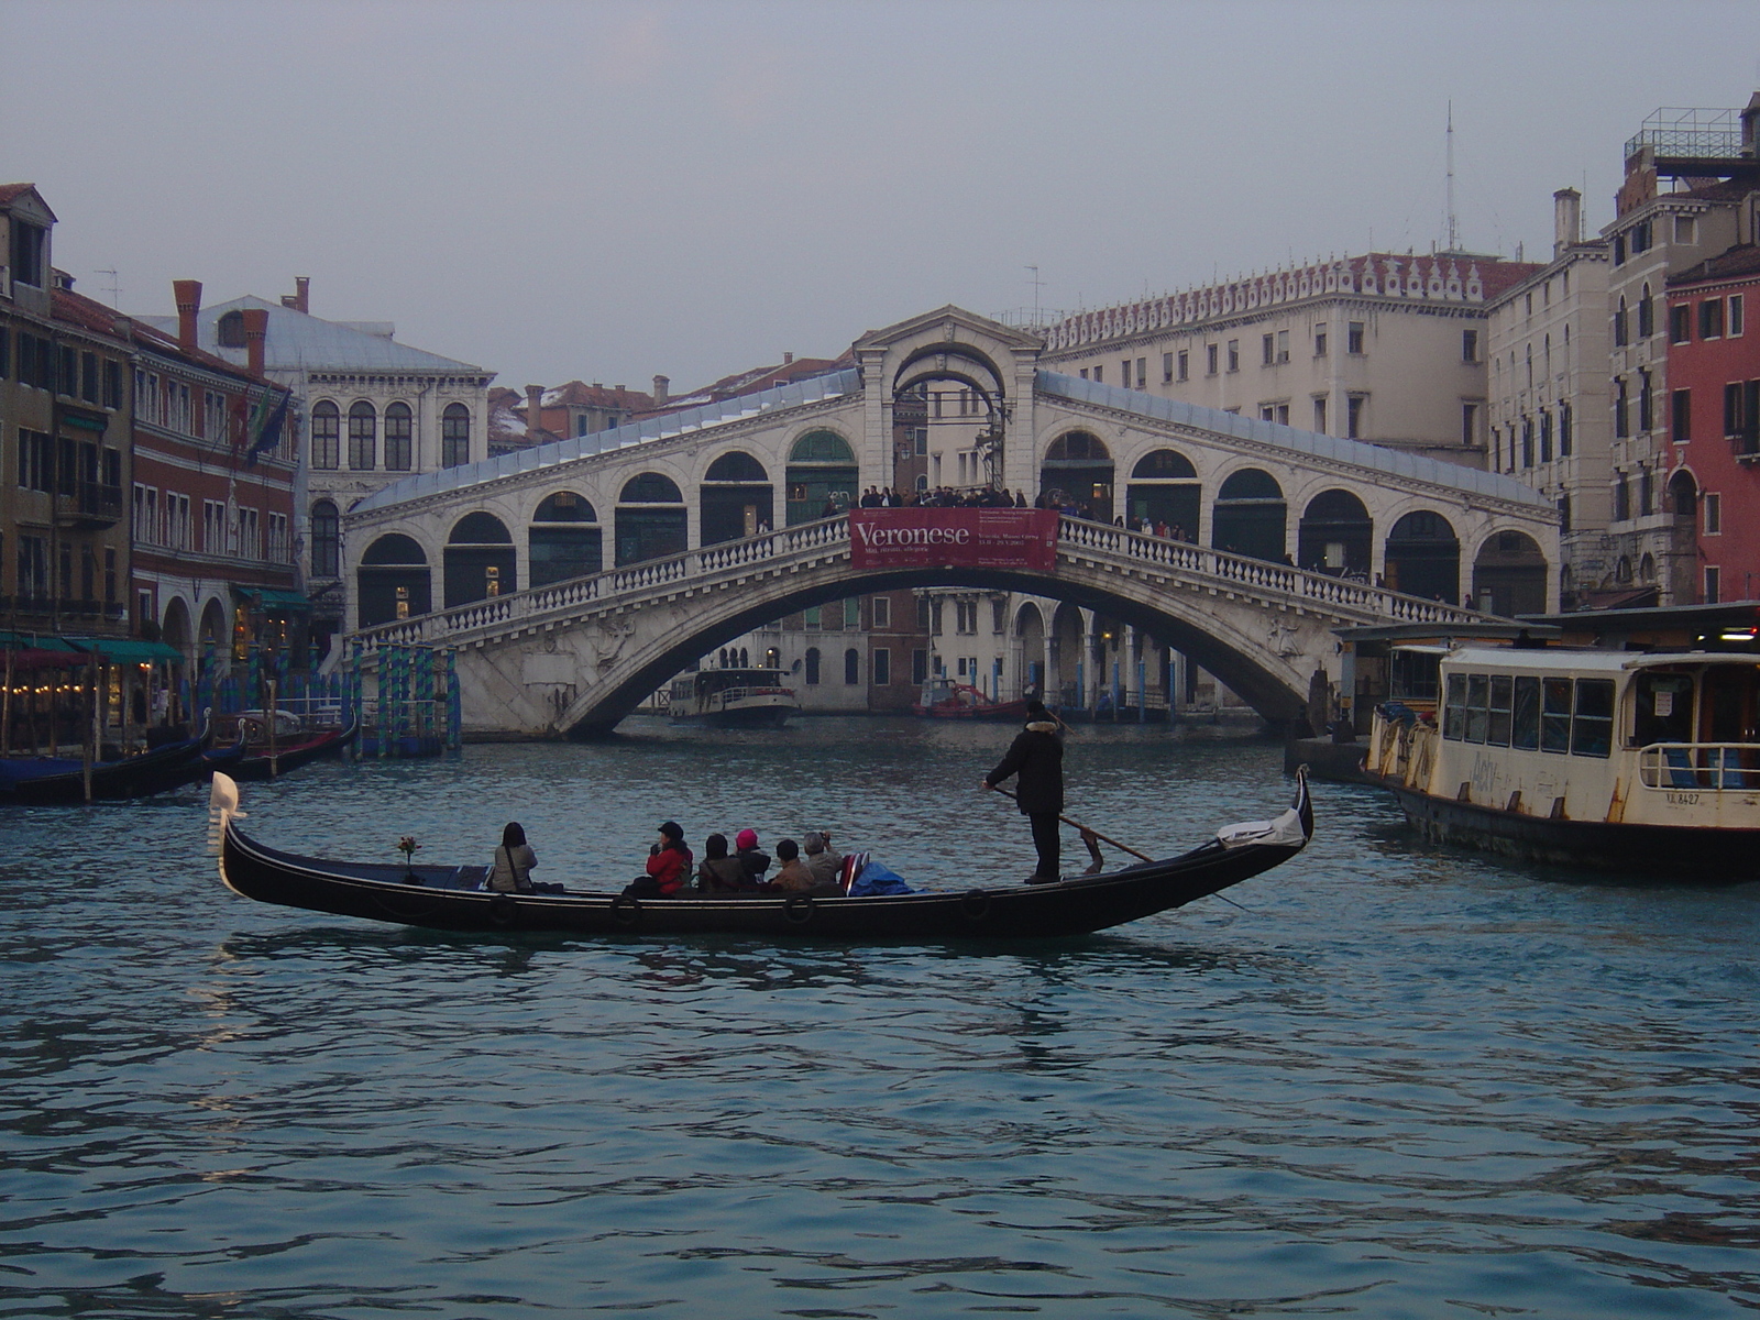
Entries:
[[1054, 572], [852, 567], [847, 517], [748, 537], [500, 595], [356, 635], [377, 648], [459, 648], [465, 729], [590, 737], [672, 674], [759, 623], [815, 604], [908, 586], [1054, 597], [1165, 639], [1269, 722], [1299, 718], [1315, 674], [1336, 683], [1346, 625], [1484, 621], [1434, 600], [1327, 574], [1063, 519]]

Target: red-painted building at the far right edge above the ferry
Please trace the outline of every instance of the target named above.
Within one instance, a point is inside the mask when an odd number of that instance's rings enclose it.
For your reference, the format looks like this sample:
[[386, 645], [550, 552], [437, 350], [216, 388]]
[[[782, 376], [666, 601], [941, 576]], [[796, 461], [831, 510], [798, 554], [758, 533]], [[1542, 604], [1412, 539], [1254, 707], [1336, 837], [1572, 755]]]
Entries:
[[1704, 604], [1760, 598], [1760, 246], [1668, 278], [1668, 503], [1695, 507]]

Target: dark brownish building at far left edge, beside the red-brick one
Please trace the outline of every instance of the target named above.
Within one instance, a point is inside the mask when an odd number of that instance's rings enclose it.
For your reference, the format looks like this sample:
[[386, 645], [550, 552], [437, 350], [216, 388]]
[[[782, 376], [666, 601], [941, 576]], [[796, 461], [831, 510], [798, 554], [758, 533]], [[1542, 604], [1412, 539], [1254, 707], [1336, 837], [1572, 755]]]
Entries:
[[53, 231], [35, 187], [0, 185], [0, 627], [121, 637], [132, 348], [55, 269]]

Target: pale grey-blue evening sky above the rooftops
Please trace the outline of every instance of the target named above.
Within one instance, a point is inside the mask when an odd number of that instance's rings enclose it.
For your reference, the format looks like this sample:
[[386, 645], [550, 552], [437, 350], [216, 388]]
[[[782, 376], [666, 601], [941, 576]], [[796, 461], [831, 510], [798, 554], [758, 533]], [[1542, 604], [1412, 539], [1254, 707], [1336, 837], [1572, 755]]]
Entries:
[[1753, 0], [0, 0], [0, 181], [125, 312], [308, 275], [500, 385], [678, 394], [945, 303], [1427, 252], [1450, 107], [1463, 246], [1544, 259], [1651, 111], [1756, 88]]

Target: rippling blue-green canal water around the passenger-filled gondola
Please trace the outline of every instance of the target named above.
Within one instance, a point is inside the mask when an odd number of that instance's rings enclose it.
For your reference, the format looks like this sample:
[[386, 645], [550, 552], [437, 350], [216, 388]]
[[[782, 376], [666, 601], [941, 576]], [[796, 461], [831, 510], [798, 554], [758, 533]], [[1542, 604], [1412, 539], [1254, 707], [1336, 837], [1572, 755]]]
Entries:
[[[322, 766], [246, 829], [634, 876], [827, 825], [1012, 882], [1008, 729], [803, 720]], [[1280, 748], [1079, 729], [1146, 852]], [[1734, 1316], [1760, 1308], [1760, 887], [1320, 834], [1100, 936], [465, 938], [248, 903], [195, 794], [0, 817], [0, 1316]], [[1067, 847], [1074, 847], [1074, 840]]]

